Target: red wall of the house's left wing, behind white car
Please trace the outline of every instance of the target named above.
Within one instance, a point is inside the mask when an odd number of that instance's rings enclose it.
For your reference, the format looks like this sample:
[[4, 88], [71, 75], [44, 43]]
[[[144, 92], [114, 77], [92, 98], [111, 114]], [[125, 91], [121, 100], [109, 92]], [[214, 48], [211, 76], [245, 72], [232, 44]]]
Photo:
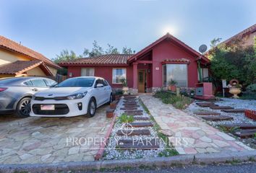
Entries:
[[68, 77], [69, 73], [72, 73], [72, 77], [81, 76], [81, 68], [94, 68], [94, 76], [103, 77], [108, 81], [114, 88], [121, 88], [121, 84], [112, 84], [112, 71], [113, 68], [127, 68], [127, 83], [129, 87], [133, 85], [133, 74], [132, 74], [132, 66], [69, 66]]

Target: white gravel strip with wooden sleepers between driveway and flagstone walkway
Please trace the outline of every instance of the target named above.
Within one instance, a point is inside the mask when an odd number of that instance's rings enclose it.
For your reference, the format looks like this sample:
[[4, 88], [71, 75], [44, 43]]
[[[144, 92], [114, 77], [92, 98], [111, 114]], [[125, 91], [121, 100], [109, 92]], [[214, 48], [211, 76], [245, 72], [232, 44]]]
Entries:
[[[177, 152], [168, 145], [168, 138], [158, 132], [158, 125], [154, 122], [147, 109], [144, 109], [145, 107], [143, 107], [144, 105], [142, 105], [142, 102], [139, 101], [138, 97], [136, 98], [136, 101], [132, 101], [134, 103], [136, 102], [136, 105], [134, 105], [134, 107], [136, 107], [135, 111], [142, 111], [142, 115], [129, 115], [129, 113], [124, 115], [124, 112], [129, 112], [129, 110], [124, 110], [124, 102], [127, 101], [124, 100], [124, 97], [120, 99], [115, 111], [117, 119], [111, 132], [111, 138], [109, 138], [108, 145], [105, 148], [103, 159], [137, 159], [176, 155]], [[129, 105], [129, 108], [132, 107], [131, 105]], [[133, 117], [130, 118], [129, 116]], [[127, 118], [127, 123], [124, 123], [125, 118]], [[140, 120], [137, 120], [137, 118], [140, 118]], [[136, 125], [138, 125], [138, 123], [140, 125], [142, 123], [151, 124], [151, 126], [146, 125], [145, 127], [137, 127]], [[132, 124], [135, 127], [129, 126], [129, 124]], [[132, 130], [132, 132], [135, 132], [135, 130], [147, 130], [150, 133], [148, 133], [148, 135], [129, 136], [121, 135], [120, 130], [121, 132], [123, 132], [122, 130]], [[150, 147], [152, 146], [142, 149], [136, 147], [128, 149], [120, 148], [120, 141], [157, 141], [157, 148], [151, 149]], [[124, 143], [124, 145], [125, 144], [126, 143]]]

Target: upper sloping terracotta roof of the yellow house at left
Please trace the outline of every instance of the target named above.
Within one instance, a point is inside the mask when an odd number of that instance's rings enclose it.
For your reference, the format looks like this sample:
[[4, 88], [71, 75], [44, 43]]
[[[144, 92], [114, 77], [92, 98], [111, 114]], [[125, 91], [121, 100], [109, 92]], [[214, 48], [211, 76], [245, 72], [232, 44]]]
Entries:
[[19, 43], [16, 43], [12, 40], [9, 40], [8, 38], [3, 37], [1, 35], [0, 35], [0, 48], [4, 48], [4, 49], [7, 49], [7, 50], [12, 50], [12, 51], [17, 52], [17, 53], [22, 53], [25, 56], [30, 56], [30, 58], [33, 58], [35, 60], [43, 61], [48, 66], [53, 66], [54, 68], [61, 68], [56, 63], [49, 60], [48, 58], [46, 58], [42, 54], [40, 54], [38, 52], [35, 52], [34, 50], [31, 50], [30, 48], [27, 48], [23, 45], [20, 45]]

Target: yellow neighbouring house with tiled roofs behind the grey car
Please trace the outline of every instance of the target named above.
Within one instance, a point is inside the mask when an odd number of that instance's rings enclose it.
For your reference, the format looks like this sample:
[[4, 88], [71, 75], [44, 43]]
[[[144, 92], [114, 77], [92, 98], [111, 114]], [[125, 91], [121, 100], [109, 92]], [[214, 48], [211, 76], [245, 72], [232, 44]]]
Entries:
[[42, 54], [0, 35], [0, 78], [56, 76], [59, 68]]

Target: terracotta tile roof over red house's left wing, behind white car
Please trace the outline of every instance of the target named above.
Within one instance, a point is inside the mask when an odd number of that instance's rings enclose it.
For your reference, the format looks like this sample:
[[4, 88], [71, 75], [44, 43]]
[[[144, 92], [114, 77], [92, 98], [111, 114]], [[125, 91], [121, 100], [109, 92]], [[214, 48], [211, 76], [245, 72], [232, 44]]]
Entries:
[[78, 58], [74, 61], [62, 61], [59, 65], [65, 64], [98, 64], [98, 65], [127, 65], [127, 59], [132, 55], [125, 55], [125, 54], [109, 54], [103, 56], [95, 56], [93, 58]]

